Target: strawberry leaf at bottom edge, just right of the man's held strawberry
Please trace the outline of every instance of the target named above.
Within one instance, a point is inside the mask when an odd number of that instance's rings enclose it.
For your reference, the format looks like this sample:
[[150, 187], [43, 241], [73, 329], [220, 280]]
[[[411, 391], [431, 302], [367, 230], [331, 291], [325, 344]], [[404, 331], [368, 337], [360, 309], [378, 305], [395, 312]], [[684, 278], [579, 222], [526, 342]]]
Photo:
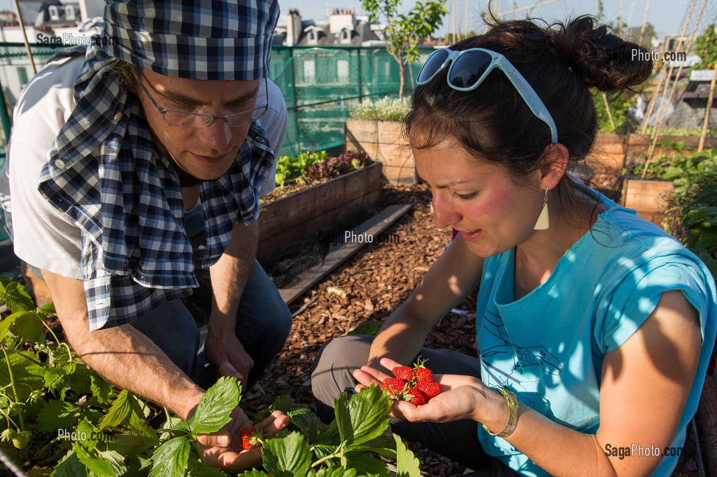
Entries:
[[262, 450], [263, 464], [275, 477], [304, 477], [311, 466], [311, 450], [298, 432], [282, 430], [267, 439]]

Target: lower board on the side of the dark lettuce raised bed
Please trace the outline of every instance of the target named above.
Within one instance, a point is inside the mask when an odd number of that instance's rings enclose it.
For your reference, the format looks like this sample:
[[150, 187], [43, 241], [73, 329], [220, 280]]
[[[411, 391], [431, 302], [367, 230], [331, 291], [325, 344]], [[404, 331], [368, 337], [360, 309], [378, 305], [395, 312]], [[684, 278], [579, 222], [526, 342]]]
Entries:
[[353, 201], [341, 204], [340, 207], [326, 210], [320, 213], [320, 215], [308, 219], [308, 221], [297, 223], [290, 228], [285, 228], [275, 236], [263, 238], [257, 249], [257, 258], [264, 259], [279, 251], [287, 244], [305, 238], [319, 231], [321, 228], [326, 228], [331, 225], [331, 223], [336, 223], [346, 216], [347, 210], [358, 211], [374, 206], [381, 200], [381, 192], [381, 188], [376, 189], [376, 191], [370, 191], [364, 196], [354, 198]]

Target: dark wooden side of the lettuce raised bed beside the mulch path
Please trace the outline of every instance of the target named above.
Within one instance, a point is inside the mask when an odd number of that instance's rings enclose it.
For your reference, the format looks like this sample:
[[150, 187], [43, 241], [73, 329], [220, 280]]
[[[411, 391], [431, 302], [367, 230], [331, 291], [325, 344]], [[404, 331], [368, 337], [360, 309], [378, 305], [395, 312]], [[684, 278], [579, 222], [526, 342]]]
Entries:
[[369, 165], [262, 206], [258, 258], [381, 200], [381, 164]]

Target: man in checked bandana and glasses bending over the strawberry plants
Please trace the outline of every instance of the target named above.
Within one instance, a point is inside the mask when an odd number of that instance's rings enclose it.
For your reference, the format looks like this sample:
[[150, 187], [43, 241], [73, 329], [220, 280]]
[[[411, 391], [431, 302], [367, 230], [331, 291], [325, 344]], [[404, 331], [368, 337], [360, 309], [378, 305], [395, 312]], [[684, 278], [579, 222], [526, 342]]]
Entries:
[[[16, 255], [41, 271], [90, 367], [185, 419], [204, 392], [179, 300], [199, 286], [190, 236], [206, 247], [205, 350], [218, 374], [250, 387], [291, 324], [255, 260], [262, 183], [286, 127], [267, 80], [278, 16], [275, 0], [109, 0], [102, 41], [50, 59], [14, 113]], [[233, 417], [199, 441], [207, 463], [238, 471], [261, 454], [239, 452], [249, 421]], [[258, 423], [287, 424], [281, 413]]]

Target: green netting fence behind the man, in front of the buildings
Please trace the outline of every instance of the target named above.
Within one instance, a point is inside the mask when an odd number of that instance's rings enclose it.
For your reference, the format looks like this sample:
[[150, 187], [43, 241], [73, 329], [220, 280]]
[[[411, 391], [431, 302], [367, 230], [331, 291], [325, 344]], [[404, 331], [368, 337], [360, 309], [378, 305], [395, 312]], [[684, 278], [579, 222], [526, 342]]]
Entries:
[[[57, 49], [31, 44], [37, 69]], [[427, 57], [426, 49], [422, 58]], [[421, 64], [407, 65], [409, 95]], [[24, 44], [0, 43], [0, 166], [4, 162], [11, 114], [22, 87], [32, 79]], [[288, 127], [280, 155], [336, 148], [344, 143], [344, 122], [361, 101], [397, 97], [399, 65], [384, 47], [272, 47], [269, 77], [288, 107]]]

